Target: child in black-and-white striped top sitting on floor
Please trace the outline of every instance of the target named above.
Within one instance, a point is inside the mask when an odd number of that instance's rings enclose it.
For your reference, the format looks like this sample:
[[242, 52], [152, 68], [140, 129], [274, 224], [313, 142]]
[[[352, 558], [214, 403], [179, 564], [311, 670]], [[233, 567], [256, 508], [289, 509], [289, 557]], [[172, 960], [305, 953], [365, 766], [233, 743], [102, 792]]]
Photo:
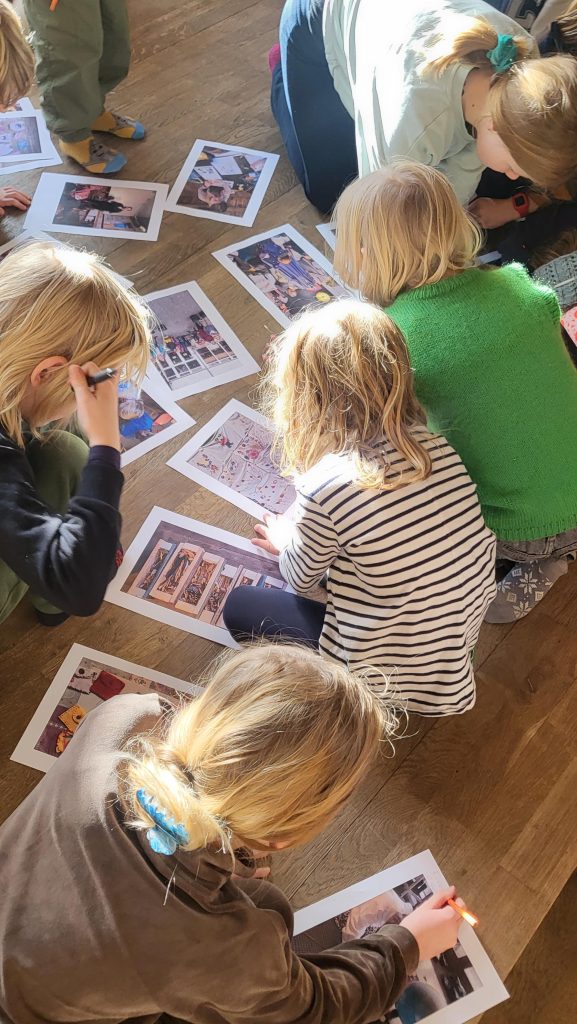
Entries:
[[471, 708], [495, 539], [459, 457], [423, 426], [399, 328], [353, 300], [308, 313], [274, 348], [263, 407], [299, 501], [294, 524], [267, 515], [253, 543], [280, 554], [298, 595], [326, 575], [328, 600], [238, 587], [233, 636], [292, 637], [391, 674], [422, 715]]

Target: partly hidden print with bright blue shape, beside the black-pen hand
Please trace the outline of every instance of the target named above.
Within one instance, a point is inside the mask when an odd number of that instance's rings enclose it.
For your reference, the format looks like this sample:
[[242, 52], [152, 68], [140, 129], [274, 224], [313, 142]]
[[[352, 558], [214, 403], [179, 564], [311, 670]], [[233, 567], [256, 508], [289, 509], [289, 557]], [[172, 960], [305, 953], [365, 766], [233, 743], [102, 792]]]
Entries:
[[123, 466], [195, 425], [165, 388], [148, 380], [141, 388], [128, 382], [119, 384], [118, 422]]

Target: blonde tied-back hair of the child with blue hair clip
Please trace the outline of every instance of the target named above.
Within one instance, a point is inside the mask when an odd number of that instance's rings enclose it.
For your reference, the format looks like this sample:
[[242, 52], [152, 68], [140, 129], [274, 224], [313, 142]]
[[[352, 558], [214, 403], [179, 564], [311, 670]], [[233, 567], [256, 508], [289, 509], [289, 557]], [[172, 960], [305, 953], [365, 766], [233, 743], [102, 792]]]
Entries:
[[146, 792], [187, 829], [183, 848], [233, 837], [295, 846], [353, 793], [396, 719], [363, 678], [303, 647], [229, 653], [202, 694], [126, 751], [119, 796], [130, 827], [154, 821]]

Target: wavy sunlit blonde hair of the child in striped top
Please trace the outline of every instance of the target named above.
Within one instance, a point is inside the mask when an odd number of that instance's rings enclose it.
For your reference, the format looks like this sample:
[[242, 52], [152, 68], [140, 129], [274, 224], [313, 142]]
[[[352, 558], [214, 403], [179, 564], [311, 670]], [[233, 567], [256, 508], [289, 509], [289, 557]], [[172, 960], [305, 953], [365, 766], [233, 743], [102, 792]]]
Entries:
[[[328, 453], [352, 458], [361, 487], [394, 490], [430, 474], [415, 432], [424, 416], [405, 339], [369, 303], [343, 300], [299, 317], [276, 342], [261, 406], [285, 475], [305, 472]], [[410, 471], [391, 471], [384, 439]]]

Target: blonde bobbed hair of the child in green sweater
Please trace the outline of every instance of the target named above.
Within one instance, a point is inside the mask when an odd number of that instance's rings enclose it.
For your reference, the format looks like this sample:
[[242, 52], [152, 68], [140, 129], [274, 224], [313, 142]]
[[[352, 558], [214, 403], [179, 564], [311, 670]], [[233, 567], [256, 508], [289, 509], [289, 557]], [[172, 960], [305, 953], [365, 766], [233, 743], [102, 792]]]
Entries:
[[380, 306], [473, 266], [483, 241], [445, 175], [410, 161], [353, 181], [334, 218], [336, 272]]

